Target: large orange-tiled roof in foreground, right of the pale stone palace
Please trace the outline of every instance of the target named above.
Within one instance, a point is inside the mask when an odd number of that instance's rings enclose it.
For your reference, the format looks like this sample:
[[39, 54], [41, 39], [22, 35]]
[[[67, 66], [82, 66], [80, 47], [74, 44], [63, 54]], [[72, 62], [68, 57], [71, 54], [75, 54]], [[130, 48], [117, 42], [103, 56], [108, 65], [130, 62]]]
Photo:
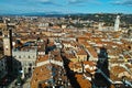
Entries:
[[[45, 88], [45, 86], [50, 85], [48, 81], [53, 78], [54, 84], [57, 86], [69, 84], [66, 72], [63, 67], [54, 64], [46, 64], [34, 69], [31, 79], [31, 88], [38, 88], [38, 85], [41, 85], [42, 88]], [[63, 84], [58, 82], [58, 80]]]

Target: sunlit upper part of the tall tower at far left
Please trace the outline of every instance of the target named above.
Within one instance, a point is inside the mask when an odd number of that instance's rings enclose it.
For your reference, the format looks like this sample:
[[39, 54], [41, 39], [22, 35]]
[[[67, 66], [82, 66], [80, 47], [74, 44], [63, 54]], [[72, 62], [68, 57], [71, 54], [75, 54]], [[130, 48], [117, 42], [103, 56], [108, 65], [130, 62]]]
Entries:
[[6, 28], [2, 31], [2, 36], [3, 36], [4, 55], [11, 56], [12, 55], [12, 29], [8, 23], [6, 23]]

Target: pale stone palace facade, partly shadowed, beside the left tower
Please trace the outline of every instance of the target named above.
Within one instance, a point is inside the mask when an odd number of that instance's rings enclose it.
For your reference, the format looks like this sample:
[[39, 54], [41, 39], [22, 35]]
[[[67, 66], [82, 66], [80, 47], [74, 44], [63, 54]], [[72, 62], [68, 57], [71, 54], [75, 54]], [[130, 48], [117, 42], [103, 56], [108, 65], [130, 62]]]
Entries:
[[26, 74], [32, 74], [35, 67], [36, 54], [36, 48], [26, 51], [12, 50], [14, 73], [21, 73], [23, 78]]

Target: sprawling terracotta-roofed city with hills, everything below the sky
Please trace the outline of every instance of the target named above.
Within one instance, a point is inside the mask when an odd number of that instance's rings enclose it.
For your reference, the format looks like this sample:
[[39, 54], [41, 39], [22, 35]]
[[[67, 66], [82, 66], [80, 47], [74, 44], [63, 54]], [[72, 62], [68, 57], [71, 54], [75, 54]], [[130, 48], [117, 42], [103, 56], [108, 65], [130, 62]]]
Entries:
[[0, 15], [0, 88], [132, 88], [132, 14], [33, 13]]

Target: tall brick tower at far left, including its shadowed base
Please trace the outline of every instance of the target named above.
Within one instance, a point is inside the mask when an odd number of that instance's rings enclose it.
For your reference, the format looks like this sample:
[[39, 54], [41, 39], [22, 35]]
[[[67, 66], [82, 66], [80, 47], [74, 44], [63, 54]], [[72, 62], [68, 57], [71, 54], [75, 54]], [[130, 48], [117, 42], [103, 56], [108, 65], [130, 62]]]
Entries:
[[3, 55], [7, 63], [7, 72], [10, 75], [13, 73], [13, 57], [12, 57], [12, 30], [15, 28], [14, 23], [7, 18], [2, 19], [0, 23], [0, 30], [2, 32], [2, 36], [0, 36], [3, 41]]

